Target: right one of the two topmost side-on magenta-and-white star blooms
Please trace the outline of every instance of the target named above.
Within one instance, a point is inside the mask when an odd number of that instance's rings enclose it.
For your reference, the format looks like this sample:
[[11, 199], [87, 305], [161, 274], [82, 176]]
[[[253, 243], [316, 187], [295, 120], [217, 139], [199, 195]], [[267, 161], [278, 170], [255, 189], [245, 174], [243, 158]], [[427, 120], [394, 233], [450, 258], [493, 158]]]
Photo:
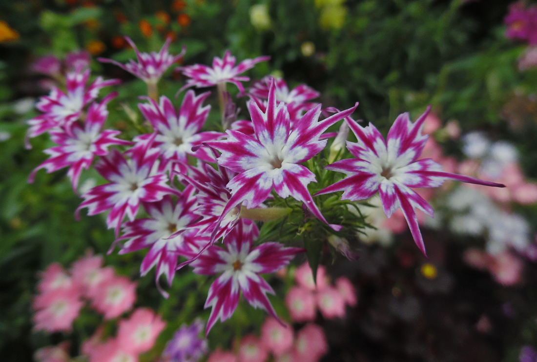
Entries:
[[219, 83], [233, 83], [241, 93], [244, 93], [244, 87], [241, 82], [248, 82], [250, 78], [239, 76], [240, 73], [253, 68], [259, 62], [269, 60], [269, 56], [260, 56], [253, 59], [245, 59], [235, 67], [236, 59], [231, 55], [231, 51], [226, 50], [223, 58], [214, 57], [213, 67], [207, 67], [203, 64], [188, 65], [188, 67], [179, 67], [183, 74], [190, 79], [186, 81], [183, 88], [188, 87], [210, 87]]

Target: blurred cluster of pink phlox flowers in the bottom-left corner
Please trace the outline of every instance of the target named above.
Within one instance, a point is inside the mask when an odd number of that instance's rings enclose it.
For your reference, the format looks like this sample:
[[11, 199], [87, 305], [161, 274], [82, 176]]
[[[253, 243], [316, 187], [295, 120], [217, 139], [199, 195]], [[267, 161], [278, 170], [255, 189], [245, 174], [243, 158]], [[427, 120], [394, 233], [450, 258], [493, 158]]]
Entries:
[[[84, 301], [104, 320], [116, 319], [132, 309], [136, 284], [118, 276], [111, 267], [103, 267], [103, 257], [87, 255], [72, 264], [70, 273], [59, 264], [43, 272], [34, 299], [34, 329], [47, 332], [70, 331]], [[165, 327], [151, 309], [137, 308], [127, 319], [117, 321], [117, 336], [104, 335], [103, 327], [82, 344], [81, 354], [90, 362], [136, 361], [140, 353], [153, 348]], [[40, 362], [68, 361], [66, 343], [39, 350]]]

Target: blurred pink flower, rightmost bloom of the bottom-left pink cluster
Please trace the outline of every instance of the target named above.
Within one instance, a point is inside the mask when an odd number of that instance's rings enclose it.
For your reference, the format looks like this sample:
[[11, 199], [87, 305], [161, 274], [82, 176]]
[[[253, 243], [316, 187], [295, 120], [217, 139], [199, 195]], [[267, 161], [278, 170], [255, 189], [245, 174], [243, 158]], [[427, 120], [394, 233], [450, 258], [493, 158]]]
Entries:
[[136, 309], [127, 320], [121, 320], [118, 328], [118, 343], [122, 350], [133, 354], [153, 348], [158, 335], [166, 323], [148, 308]]

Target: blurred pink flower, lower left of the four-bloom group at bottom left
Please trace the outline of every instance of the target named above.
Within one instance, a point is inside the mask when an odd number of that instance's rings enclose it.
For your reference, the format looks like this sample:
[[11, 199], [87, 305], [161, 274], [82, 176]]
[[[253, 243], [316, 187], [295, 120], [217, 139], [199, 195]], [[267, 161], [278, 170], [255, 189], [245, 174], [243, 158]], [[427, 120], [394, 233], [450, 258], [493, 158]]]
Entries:
[[84, 303], [76, 290], [54, 290], [33, 300], [34, 329], [48, 332], [70, 331]]

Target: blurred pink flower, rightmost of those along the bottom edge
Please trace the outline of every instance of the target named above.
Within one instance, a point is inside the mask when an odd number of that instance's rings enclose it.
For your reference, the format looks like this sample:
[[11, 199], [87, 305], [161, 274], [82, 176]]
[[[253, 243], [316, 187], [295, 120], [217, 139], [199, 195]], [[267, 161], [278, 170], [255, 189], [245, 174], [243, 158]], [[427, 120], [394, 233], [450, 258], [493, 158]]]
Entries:
[[328, 352], [328, 343], [321, 327], [309, 323], [297, 334], [294, 343], [293, 362], [315, 362]]

